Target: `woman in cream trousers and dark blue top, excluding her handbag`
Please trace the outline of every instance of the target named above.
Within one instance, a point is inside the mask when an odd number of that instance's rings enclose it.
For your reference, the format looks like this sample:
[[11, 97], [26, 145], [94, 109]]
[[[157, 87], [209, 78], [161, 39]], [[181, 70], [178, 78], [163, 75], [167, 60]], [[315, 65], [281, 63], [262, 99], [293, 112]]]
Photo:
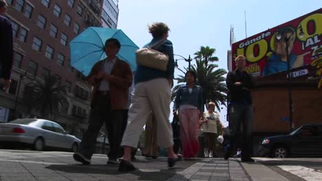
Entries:
[[155, 114], [155, 121], [158, 125], [158, 145], [167, 148], [168, 166], [173, 167], [177, 160], [177, 156], [173, 152], [172, 130], [169, 123], [171, 85], [175, 67], [173, 45], [170, 40], [167, 40], [169, 27], [166, 24], [153, 23], [149, 26], [149, 32], [153, 39], [148, 45], [160, 43], [160, 46], [155, 49], [169, 56], [169, 62], [167, 71], [138, 64], [127, 129], [121, 144], [125, 149], [125, 154], [120, 162], [119, 171], [136, 170], [131, 164], [131, 147], [137, 147], [140, 132], [142, 132], [144, 124], [149, 119], [151, 111]]

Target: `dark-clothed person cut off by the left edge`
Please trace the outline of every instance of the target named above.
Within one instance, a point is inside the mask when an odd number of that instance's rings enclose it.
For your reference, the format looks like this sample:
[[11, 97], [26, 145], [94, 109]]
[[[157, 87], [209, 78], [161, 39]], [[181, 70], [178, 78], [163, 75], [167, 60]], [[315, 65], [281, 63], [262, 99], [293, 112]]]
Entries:
[[0, 0], [0, 88], [4, 91], [10, 86], [13, 62], [12, 25], [6, 18], [7, 8], [7, 2]]

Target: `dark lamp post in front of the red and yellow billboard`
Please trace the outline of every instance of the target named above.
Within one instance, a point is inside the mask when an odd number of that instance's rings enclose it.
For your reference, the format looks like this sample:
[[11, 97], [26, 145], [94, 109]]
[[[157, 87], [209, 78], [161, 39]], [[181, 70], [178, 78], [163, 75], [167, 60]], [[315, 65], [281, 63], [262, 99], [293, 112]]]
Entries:
[[292, 38], [294, 32], [296, 32], [299, 29], [299, 36], [303, 37], [303, 29], [301, 26], [299, 26], [297, 29], [293, 29], [292, 27], [281, 27], [277, 29], [277, 40], [281, 40], [283, 38], [284, 42], [286, 43], [286, 61], [288, 63], [288, 110], [289, 110], [289, 120], [290, 120], [290, 130], [294, 130], [294, 124], [293, 124], [293, 99], [292, 99], [292, 74], [290, 73], [291, 65], [290, 65], [290, 55], [288, 52], [288, 48], [290, 47], [289, 41]]

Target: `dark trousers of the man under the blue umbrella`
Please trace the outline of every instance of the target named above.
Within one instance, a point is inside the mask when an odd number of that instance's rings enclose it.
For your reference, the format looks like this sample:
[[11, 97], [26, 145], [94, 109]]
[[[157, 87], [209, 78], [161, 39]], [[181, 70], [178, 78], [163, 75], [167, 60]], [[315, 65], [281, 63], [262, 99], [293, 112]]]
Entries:
[[95, 149], [96, 138], [105, 123], [107, 137], [109, 139], [109, 159], [118, 158], [121, 153], [122, 128], [127, 110], [111, 110], [109, 94], [98, 92], [94, 97], [89, 115], [89, 125], [85, 132], [78, 152], [92, 158]]

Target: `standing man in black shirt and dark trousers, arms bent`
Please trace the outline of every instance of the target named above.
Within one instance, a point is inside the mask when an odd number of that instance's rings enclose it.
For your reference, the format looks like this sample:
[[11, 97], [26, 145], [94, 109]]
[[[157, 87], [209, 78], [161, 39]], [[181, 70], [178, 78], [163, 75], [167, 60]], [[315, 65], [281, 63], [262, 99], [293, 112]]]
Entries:
[[242, 128], [241, 161], [254, 162], [250, 158], [253, 152], [253, 101], [250, 93], [250, 88], [254, 86], [253, 78], [245, 71], [244, 56], [237, 56], [235, 62], [237, 69], [229, 72], [226, 79], [230, 103], [228, 108], [230, 147], [224, 158], [227, 160], [230, 157], [236, 145], [237, 132]]

